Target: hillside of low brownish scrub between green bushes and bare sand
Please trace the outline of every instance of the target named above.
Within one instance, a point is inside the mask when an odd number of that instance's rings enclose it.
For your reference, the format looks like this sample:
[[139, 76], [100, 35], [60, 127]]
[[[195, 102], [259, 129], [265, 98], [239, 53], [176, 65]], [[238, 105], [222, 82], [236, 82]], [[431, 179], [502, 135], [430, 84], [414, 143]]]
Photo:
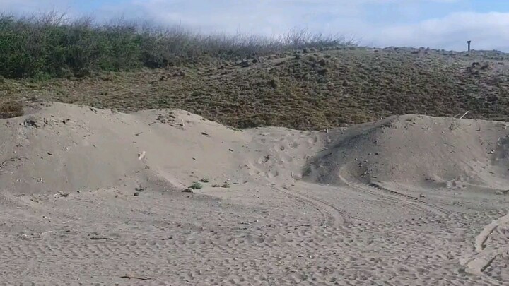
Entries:
[[393, 114], [509, 121], [509, 55], [431, 49], [300, 49], [242, 61], [85, 78], [2, 79], [0, 100], [135, 112], [185, 109], [239, 128], [358, 124]]

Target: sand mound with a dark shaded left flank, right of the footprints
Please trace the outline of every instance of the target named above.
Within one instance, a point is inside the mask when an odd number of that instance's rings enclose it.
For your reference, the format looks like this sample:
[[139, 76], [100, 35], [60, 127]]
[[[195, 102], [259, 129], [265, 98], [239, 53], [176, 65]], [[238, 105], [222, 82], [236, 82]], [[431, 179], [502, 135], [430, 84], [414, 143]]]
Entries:
[[423, 187], [508, 189], [508, 124], [406, 115], [329, 133], [304, 176]]

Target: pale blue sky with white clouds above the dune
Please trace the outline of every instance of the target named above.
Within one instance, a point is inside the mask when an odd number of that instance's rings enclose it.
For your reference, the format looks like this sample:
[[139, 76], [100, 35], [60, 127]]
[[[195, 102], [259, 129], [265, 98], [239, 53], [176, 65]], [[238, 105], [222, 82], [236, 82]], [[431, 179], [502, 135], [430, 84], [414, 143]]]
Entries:
[[372, 47], [509, 52], [505, 0], [0, 0], [0, 11], [144, 18], [201, 32], [280, 35], [291, 28], [353, 36]]

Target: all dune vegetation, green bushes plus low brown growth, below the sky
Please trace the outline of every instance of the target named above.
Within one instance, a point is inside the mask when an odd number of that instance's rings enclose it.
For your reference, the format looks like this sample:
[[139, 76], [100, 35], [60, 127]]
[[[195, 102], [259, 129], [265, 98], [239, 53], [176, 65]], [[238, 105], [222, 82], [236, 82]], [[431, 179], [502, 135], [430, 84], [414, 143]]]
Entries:
[[0, 53], [0, 104], [38, 98], [123, 112], [185, 109], [240, 128], [324, 129], [466, 111], [509, 121], [509, 55], [501, 52], [370, 49], [307, 32], [206, 37], [49, 19], [1, 18], [0, 49], [11, 52]]

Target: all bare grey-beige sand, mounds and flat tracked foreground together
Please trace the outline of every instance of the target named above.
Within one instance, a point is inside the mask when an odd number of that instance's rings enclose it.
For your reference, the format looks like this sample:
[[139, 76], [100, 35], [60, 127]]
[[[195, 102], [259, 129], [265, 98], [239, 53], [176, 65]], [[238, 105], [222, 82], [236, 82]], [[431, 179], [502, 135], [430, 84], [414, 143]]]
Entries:
[[507, 126], [45, 105], [0, 121], [0, 285], [509, 285]]

